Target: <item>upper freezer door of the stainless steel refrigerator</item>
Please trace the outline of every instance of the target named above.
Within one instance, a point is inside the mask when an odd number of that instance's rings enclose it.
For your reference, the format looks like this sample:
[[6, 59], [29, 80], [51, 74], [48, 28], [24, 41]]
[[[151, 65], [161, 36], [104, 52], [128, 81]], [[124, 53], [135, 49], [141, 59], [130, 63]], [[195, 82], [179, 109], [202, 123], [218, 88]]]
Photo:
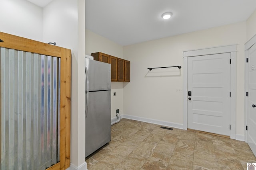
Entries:
[[111, 64], [85, 59], [86, 92], [111, 89]]

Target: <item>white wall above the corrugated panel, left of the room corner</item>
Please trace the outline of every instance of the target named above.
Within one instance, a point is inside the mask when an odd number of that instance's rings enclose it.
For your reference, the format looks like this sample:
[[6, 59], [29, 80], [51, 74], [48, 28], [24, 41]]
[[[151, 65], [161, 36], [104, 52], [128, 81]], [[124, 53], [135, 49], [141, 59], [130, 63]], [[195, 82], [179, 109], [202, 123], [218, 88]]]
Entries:
[[0, 31], [42, 41], [42, 8], [26, 0], [0, 0]]

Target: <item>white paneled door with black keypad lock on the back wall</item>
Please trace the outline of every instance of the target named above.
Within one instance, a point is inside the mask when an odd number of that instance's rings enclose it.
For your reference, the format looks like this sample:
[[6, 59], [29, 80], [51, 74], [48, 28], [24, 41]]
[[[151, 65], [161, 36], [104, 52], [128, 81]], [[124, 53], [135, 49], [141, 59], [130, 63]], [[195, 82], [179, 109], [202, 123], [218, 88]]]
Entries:
[[230, 136], [230, 53], [188, 57], [188, 128]]

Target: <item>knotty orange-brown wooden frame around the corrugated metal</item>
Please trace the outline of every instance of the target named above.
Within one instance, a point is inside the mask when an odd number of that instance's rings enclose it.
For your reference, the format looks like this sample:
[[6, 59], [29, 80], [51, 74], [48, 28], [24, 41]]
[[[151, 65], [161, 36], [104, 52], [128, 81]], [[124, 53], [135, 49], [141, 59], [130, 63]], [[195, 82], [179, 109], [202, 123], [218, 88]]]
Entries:
[[[47, 170], [64, 170], [70, 166], [70, 116], [71, 116], [71, 50], [0, 32], [0, 47], [42, 55], [60, 60], [60, 162]], [[0, 94], [1, 95], [1, 94]], [[1, 99], [1, 96], [0, 96]], [[1, 105], [0, 105], [1, 109]], [[0, 126], [1, 127], [1, 126]], [[1, 131], [0, 131], [1, 136]], [[0, 150], [1, 152], [1, 150]]]

